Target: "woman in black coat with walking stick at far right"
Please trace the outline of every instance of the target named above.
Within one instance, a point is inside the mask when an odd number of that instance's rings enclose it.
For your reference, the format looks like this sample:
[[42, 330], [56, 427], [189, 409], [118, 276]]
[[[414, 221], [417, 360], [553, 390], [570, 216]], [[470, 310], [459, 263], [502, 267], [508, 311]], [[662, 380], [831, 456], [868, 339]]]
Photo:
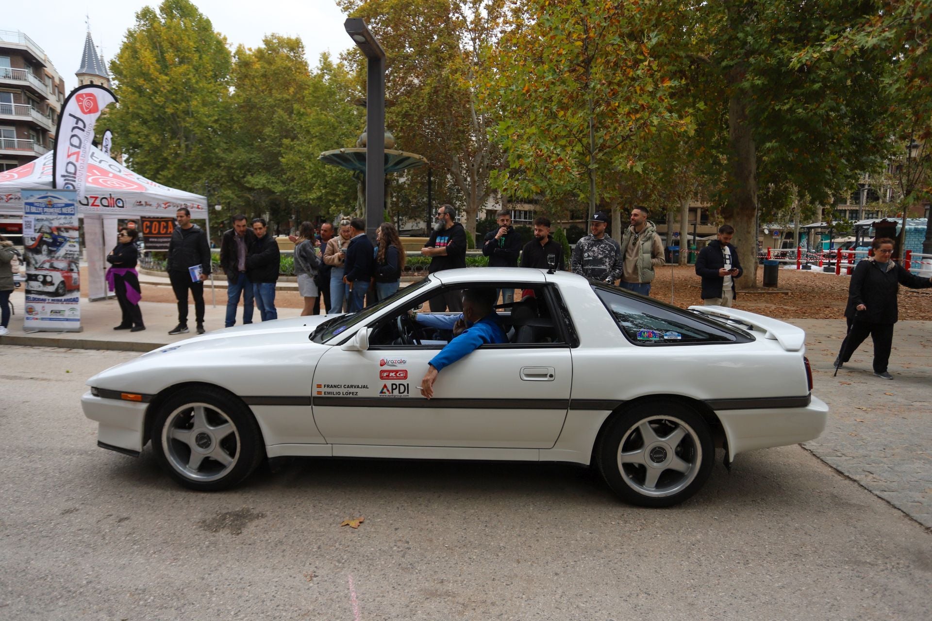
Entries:
[[878, 237], [873, 240], [873, 256], [857, 263], [851, 284], [848, 286], [848, 305], [844, 317], [848, 319], [848, 335], [844, 337], [842, 352], [834, 366], [841, 369], [851, 359], [860, 344], [870, 334], [874, 344], [874, 375], [892, 380], [886, 371], [893, 345], [893, 324], [897, 323], [897, 293], [899, 285], [910, 289], [932, 287], [928, 278], [913, 276], [890, 259], [893, 239]]

